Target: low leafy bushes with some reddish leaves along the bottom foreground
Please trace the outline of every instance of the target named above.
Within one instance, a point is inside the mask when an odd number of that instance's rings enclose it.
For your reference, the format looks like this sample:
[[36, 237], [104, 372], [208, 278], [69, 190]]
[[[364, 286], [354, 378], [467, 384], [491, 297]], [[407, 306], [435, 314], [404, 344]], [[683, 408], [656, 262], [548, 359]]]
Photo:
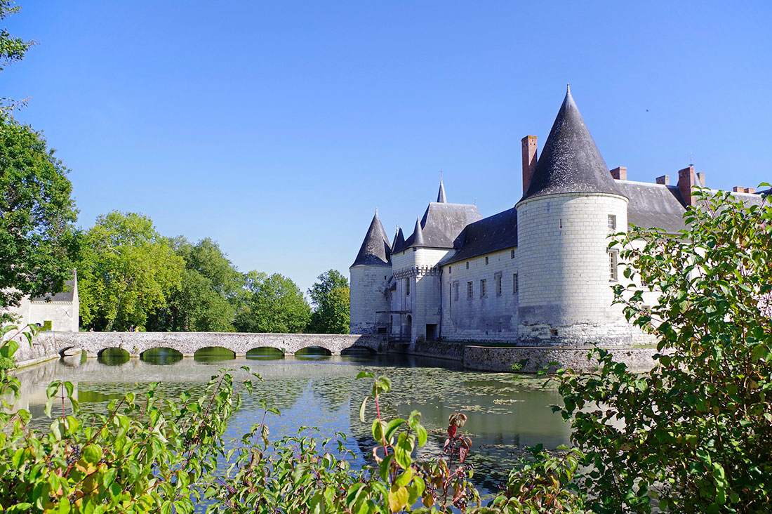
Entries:
[[[2, 328], [0, 335], [13, 330]], [[12, 355], [16, 343], [2, 348]], [[54, 407], [59, 412], [48, 431], [30, 427], [29, 411], [3, 404], [0, 512], [166, 514], [193, 512], [196, 505], [222, 514], [580, 512], [581, 497], [564, 487], [577, 470], [576, 451], [552, 456], [535, 448], [537, 460], [513, 471], [503, 492], [481, 506], [466, 465], [472, 441], [459, 431], [466, 416], [450, 417], [442, 457], [418, 461], [415, 452], [428, 439], [421, 414], [385, 420], [381, 402], [391, 382], [365, 372], [357, 378], [372, 382], [360, 417], [364, 421], [367, 405], [374, 407], [376, 443], [374, 465], [362, 469], [351, 468], [354, 454], [344, 434], [318, 441], [303, 431], [272, 441], [265, 420], [279, 413], [264, 402], [262, 420], [236, 448], [226, 448], [225, 425], [242, 393], [252, 393], [252, 380], [259, 380], [254, 374], [241, 382], [231, 373], [212, 376], [200, 398], [157, 397], [152, 384], [141, 396], [111, 401], [100, 415], [80, 411], [72, 383], [51, 383], [46, 414]], [[0, 369], [0, 395], [18, 390], [19, 382]]]

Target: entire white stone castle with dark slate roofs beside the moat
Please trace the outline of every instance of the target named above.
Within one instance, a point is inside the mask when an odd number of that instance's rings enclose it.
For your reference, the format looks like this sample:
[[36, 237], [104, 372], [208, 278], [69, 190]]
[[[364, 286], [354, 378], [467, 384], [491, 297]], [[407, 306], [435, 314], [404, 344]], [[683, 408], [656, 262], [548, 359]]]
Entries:
[[667, 175], [650, 184], [609, 172], [569, 90], [538, 161], [536, 138], [523, 138], [523, 196], [512, 209], [481, 219], [476, 206], [448, 203], [441, 180], [437, 201], [393, 245], [376, 212], [350, 267], [350, 331], [406, 342], [635, 342], [642, 333], [611, 305], [618, 254], [608, 235], [628, 223], [677, 233], [704, 183], [692, 166], [677, 186]]

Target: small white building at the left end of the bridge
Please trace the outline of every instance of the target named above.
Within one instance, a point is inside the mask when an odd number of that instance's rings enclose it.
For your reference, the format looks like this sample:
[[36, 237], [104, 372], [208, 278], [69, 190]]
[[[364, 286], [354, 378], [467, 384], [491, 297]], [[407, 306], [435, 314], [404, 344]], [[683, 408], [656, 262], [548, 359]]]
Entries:
[[54, 332], [78, 332], [80, 301], [78, 300], [78, 277], [67, 281], [65, 291], [56, 294], [45, 294], [34, 298], [25, 296], [19, 307], [8, 308], [8, 311], [19, 317], [19, 326], [39, 325]]

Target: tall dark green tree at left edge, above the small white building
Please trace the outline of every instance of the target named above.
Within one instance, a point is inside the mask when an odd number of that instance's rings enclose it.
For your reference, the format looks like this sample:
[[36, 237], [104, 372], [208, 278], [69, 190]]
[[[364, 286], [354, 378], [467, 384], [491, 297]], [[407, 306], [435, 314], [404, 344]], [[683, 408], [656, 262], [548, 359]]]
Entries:
[[[18, 10], [0, 0], [0, 19]], [[31, 45], [0, 31], [0, 71]], [[19, 305], [25, 294], [63, 291], [77, 251], [69, 170], [41, 133], [9, 111], [0, 107], [0, 307]]]

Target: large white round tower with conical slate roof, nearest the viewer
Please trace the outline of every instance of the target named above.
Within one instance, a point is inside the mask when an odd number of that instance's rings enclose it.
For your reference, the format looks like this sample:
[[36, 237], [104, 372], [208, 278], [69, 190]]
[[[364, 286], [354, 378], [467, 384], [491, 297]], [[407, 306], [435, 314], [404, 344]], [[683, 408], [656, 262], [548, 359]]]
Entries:
[[618, 256], [608, 250], [608, 234], [627, 230], [627, 205], [567, 90], [516, 204], [521, 344], [631, 342], [611, 305]]

